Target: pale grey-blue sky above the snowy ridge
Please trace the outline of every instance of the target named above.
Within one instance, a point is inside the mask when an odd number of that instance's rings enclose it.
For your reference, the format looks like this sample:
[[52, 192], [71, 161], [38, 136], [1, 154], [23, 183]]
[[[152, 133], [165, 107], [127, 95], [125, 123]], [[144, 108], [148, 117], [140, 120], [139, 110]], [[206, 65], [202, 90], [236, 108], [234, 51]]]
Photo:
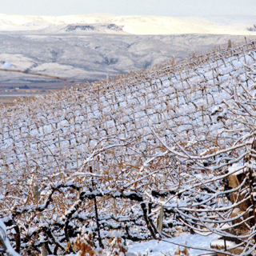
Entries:
[[256, 15], [256, 0], [0, 0], [0, 14]]

